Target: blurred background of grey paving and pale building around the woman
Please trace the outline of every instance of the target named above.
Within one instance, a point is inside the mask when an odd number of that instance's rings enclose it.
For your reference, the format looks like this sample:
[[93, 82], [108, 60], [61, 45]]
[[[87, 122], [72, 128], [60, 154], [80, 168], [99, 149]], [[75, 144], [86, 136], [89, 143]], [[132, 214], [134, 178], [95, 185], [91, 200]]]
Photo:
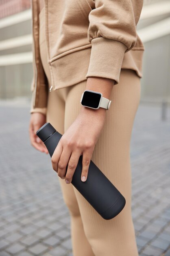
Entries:
[[[140, 256], [170, 256], [170, 0], [144, 0], [137, 32], [145, 51], [131, 138], [133, 221]], [[0, 256], [71, 256], [58, 178], [29, 142], [32, 61], [30, 0], [0, 0]]]

